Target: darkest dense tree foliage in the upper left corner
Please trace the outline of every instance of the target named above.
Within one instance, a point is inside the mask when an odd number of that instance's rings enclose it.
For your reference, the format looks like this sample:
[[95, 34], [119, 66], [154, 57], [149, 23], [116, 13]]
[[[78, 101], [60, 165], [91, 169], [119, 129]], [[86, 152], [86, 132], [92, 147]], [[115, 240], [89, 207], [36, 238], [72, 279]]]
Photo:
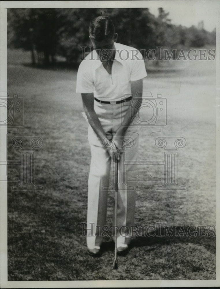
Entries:
[[[59, 23], [55, 9], [8, 9], [8, 22], [13, 27], [14, 47], [30, 50], [32, 63], [36, 63], [34, 51], [38, 56], [43, 53], [43, 62], [54, 62], [59, 43]], [[41, 58], [38, 57], [38, 61]]]

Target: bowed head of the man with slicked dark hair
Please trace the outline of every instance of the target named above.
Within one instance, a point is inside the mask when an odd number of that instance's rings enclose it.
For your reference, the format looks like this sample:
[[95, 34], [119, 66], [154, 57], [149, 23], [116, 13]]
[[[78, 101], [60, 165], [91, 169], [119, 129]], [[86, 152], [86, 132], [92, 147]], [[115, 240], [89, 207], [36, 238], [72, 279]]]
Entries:
[[108, 16], [98, 16], [90, 22], [90, 39], [102, 62], [109, 61], [114, 57], [114, 42], [118, 34], [111, 18]]

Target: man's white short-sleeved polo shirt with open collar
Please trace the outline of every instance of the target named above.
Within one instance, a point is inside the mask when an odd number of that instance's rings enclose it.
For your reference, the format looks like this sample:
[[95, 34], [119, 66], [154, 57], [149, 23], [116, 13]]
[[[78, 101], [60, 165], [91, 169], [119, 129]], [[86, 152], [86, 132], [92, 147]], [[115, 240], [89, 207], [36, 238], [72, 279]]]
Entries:
[[102, 101], [119, 101], [131, 94], [130, 81], [147, 76], [143, 57], [137, 49], [115, 42], [111, 75], [99, 60], [96, 50], [79, 65], [76, 92], [94, 93]]

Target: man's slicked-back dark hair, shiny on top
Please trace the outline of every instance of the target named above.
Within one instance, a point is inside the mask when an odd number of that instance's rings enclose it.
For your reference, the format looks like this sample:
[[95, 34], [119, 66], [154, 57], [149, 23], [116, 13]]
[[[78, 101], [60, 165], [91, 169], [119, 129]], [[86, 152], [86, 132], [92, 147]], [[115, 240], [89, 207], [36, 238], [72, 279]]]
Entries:
[[96, 41], [102, 41], [114, 36], [115, 26], [109, 16], [98, 16], [90, 22], [89, 33]]

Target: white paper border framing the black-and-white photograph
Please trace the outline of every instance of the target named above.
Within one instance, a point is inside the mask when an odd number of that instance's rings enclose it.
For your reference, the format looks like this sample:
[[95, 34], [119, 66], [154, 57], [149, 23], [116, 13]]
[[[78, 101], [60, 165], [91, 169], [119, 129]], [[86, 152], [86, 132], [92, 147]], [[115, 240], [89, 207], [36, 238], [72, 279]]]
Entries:
[[[0, 91], [7, 91], [7, 8], [123, 8], [123, 7], [163, 7], [166, 5], [176, 5], [179, 1], [1, 1], [0, 6]], [[183, 1], [181, 1], [183, 2]], [[186, 5], [190, 5], [190, 0], [184, 0]], [[216, 7], [216, 15], [220, 11], [219, 0], [194, 0], [198, 5], [212, 5]], [[190, 9], [190, 8], [189, 8]], [[220, 16], [216, 22], [216, 94], [217, 94], [217, 119], [216, 119], [216, 137], [217, 137], [217, 187], [216, 192], [220, 191], [219, 172], [220, 172]], [[4, 108], [1, 107], [1, 119], [5, 115]], [[7, 110], [6, 110], [7, 115]], [[7, 152], [6, 142], [1, 139], [0, 155], [5, 159]], [[1, 171], [0, 171], [1, 174]], [[131, 280], [131, 281], [8, 281], [7, 266], [7, 182], [0, 182], [0, 212], [1, 212], [1, 288], [90, 288], [90, 287], [207, 287], [220, 286], [220, 262], [219, 262], [219, 219], [220, 219], [220, 196], [216, 194], [217, 205], [217, 249], [216, 249], [216, 280]]]

